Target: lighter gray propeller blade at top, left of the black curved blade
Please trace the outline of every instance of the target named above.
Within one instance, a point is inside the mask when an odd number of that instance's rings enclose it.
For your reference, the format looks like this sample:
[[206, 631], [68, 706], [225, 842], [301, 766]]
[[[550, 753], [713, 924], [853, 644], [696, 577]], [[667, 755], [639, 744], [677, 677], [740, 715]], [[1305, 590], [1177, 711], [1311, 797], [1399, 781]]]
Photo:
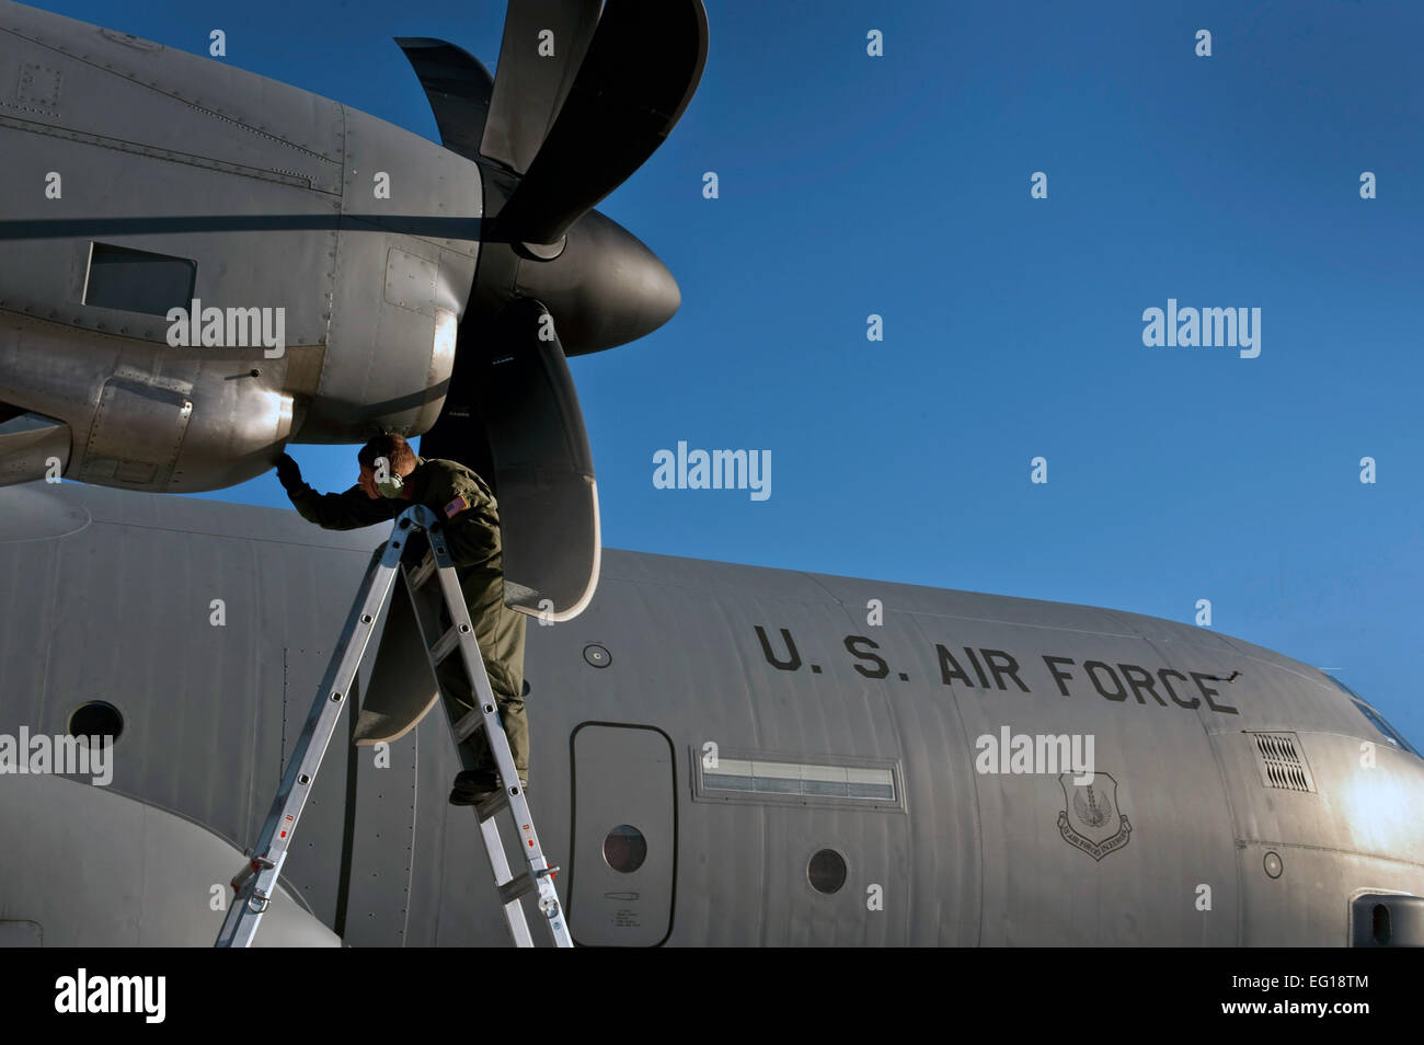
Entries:
[[528, 169], [578, 74], [601, 7], [602, 0], [510, 0], [481, 154], [515, 174]]

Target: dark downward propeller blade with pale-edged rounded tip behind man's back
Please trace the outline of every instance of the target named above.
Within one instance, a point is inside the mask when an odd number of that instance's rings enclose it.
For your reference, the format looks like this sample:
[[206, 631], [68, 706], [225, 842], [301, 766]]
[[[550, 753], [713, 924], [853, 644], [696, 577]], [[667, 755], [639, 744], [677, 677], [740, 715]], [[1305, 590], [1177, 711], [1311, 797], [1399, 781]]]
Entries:
[[[548, 309], [521, 298], [457, 355], [457, 370], [477, 356], [451, 379], [473, 389], [473, 409], [447, 403], [420, 454], [457, 460], [494, 487], [506, 605], [568, 621], [598, 585], [598, 485], [564, 349], [541, 332], [553, 332]], [[481, 470], [486, 460], [493, 474]]]

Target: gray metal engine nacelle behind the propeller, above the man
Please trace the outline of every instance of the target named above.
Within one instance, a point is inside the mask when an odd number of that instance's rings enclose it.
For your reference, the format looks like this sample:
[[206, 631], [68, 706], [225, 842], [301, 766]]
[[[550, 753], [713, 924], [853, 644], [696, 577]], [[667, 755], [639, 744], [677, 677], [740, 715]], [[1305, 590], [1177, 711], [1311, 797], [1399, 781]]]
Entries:
[[[0, 483], [212, 490], [292, 440], [434, 424], [478, 167], [231, 65], [0, 11]], [[43, 43], [41, 43], [43, 41]], [[9, 90], [9, 88], [6, 88]]]

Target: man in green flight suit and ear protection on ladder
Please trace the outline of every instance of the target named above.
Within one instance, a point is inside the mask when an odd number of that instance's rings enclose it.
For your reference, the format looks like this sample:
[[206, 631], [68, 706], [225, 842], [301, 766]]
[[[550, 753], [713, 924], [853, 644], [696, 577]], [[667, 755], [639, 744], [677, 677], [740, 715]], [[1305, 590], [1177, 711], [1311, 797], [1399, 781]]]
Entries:
[[[524, 716], [524, 614], [504, 605], [504, 564], [498, 504], [473, 470], [457, 461], [424, 460], [402, 436], [377, 436], [356, 460], [360, 477], [340, 494], [319, 494], [302, 481], [302, 471], [288, 454], [278, 458], [276, 474], [302, 518], [325, 530], [355, 530], [393, 520], [412, 504], [423, 504], [444, 524], [444, 534], [464, 592], [476, 641], [484, 659], [500, 720], [510, 740], [520, 784], [528, 782], [528, 722]], [[443, 625], [449, 626], [449, 621]], [[453, 706], [451, 720], [476, 708], [459, 658], [437, 668], [440, 690]], [[473, 806], [501, 786], [488, 742], [476, 730], [466, 742], [474, 769], [461, 772], [450, 792], [456, 806]]]

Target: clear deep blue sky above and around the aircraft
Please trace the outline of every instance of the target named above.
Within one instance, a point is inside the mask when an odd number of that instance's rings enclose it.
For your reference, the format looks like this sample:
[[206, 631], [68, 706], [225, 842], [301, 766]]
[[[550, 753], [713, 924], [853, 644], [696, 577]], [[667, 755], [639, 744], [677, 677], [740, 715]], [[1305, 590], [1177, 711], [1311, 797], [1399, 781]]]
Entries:
[[[493, 68], [504, 17], [44, 6], [195, 53], [224, 28], [226, 61], [433, 140], [392, 37]], [[571, 362], [605, 544], [1178, 621], [1206, 598], [1424, 742], [1424, 6], [706, 6], [696, 97], [600, 208], [684, 296]], [[1260, 309], [1260, 355], [1145, 346], [1169, 298]], [[770, 497], [654, 488], [679, 440], [770, 451]], [[355, 477], [352, 448], [293, 454], [319, 488]], [[206, 495], [286, 505], [271, 476]]]

